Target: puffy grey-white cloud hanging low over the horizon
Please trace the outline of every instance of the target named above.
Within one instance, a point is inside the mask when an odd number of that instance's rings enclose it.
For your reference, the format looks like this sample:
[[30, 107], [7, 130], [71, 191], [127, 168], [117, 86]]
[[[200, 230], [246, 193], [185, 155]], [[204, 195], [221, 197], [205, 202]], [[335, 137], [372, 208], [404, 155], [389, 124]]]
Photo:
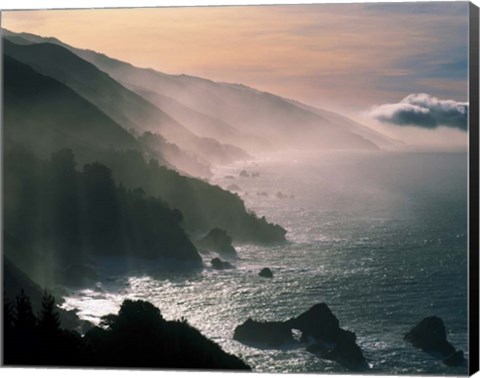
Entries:
[[440, 100], [426, 93], [414, 93], [396, 104], [374, 107], [369, 115], [399, 126], [435, 129], [439, 126], [467, 130], [468, 102]]

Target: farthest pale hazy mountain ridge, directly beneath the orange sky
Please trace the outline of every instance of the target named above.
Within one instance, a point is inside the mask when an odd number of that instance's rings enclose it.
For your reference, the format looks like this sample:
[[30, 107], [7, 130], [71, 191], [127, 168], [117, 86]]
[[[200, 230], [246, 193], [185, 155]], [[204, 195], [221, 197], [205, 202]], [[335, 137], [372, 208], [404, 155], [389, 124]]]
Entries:
[[169, 107], [172, 113], [176, 107], [178, 114], [178, 104], [181, 104], [210, 119], [220, 120], [242, 134], [268, 140], [271, 146], [264, 148], [378, 149], [395, 144], [347, 117], [244, 85], [138, 68], [104, 54], [73, 48], [55, 38], [26, 33], [15, 36], [31, 43], [61, 44], [150, 101]]

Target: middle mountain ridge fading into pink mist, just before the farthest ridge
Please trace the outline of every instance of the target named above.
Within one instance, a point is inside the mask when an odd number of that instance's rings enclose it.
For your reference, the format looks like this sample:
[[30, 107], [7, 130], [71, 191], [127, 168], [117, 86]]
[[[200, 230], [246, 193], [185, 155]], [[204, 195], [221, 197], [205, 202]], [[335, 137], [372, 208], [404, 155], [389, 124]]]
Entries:
[[[6, 54], [65, 83], [127, 130], [160, 133], [169, 142], [192, 151], [206, 162], [228, 163], [249, 157], [237, 147], [221, 144], [212, 138], [198, 137], [170, 115], [62, 46], [51, 43], [18, 45], [7, 39], [3, 48]], [[182, 155], [184, 162], [186, 156], [188, 154]], [[173, 160], [171, 163], [175, 165], [176, 162]], [[205, 173], [208, 168], [203, 166], [197, 170], [197, 165], [199, 162], [192, 159], [191, 169], [183, 168], [194, 175]]]

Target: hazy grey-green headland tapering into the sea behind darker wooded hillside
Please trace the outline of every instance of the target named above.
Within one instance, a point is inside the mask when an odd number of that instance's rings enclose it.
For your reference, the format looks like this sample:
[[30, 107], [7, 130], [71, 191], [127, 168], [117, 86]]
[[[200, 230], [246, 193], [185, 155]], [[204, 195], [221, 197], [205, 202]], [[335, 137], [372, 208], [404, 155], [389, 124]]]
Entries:
[[99, 161], [112, 168], [117, 182], [142, 187], [159, 196], [183, 214], [183, 224], [195, 238], [215, 227], [225, 229], [235, 242], [272, 243], [285, 241], [286, 230], [248, 211], [242, 199], [205, 181], [180, 175], [145, 162], [138, 152], [106, 151]]

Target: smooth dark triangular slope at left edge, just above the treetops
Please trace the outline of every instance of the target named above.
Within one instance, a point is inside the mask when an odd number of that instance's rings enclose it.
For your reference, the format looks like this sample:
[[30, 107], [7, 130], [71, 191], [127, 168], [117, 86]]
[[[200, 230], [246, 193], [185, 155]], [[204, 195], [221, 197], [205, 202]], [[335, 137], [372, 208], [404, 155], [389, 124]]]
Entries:
[[135, 138], [60, 82], [3, 55], [4, 148], [19, 145], [40, 157], [72, 148], [80, 159], [106, 149], [140, 150]]

